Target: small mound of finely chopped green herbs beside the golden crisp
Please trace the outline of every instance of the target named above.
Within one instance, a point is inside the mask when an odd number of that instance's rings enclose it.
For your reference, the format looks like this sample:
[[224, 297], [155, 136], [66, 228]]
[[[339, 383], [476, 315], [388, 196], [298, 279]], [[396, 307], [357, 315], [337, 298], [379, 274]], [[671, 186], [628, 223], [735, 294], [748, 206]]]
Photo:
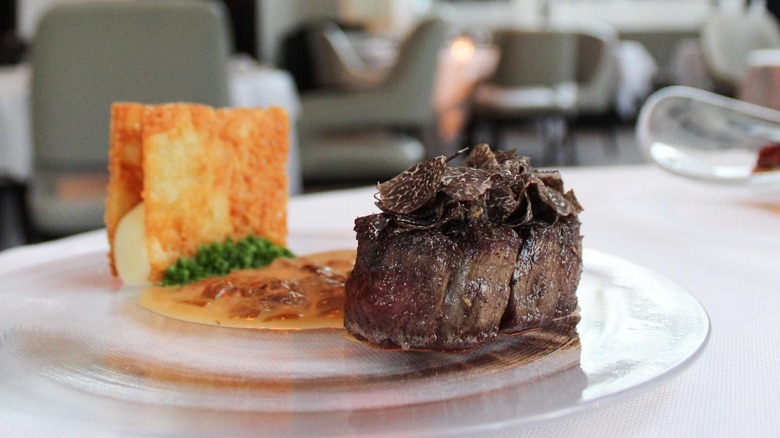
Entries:
[[234, 242], [202, 245], [193, 257], [182, 257], [169, 266], [163, 276], [163, 286], [192, 283], [206, 277], [225, 275], [237, 269], [261, 268], [279, 257], [293, 257], [282, 246], [257, 236]]

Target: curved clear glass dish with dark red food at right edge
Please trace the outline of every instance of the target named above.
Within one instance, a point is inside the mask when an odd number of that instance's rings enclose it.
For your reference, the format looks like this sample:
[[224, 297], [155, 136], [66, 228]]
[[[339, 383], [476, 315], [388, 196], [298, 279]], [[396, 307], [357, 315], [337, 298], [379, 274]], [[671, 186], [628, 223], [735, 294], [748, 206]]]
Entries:
[[651, 95], [636, 125], [642, 152], [672, 173], [734, 185], [780, 186], [754, 173], [758, 150], [780, 142], [780, 111], [689, 87]]

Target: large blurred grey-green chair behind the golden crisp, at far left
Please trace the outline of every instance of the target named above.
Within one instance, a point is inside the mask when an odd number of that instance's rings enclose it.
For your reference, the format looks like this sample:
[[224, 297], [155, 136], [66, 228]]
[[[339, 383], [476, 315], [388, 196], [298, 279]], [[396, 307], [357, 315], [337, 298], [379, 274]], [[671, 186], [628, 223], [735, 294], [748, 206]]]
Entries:
[[32, 47], [33, 230], [103, 226], [110, 107], [116, 101], [230, 102], [219, 3], [74, 2], [41, 19]]

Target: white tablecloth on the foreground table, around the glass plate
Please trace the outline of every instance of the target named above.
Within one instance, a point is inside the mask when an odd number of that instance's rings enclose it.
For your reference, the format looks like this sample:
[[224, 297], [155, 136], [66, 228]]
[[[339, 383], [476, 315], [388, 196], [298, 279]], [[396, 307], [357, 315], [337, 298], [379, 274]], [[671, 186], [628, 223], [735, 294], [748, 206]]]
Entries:
[[[585, 413], [500, 436], [777, 436], [780, 189], [705, 185], [648, 166], [564, 169], [563, 175], [585, 207], [585, 246], [687, 289], [709, 312], [711, 337], [679, 374]], [[354, 245], [353, 219], [375, 211], [373, 193], [366, 188], [293, 198], [290, 246], [316, 251]], [[103, 233], [93, 232], [8, 250], [0, 253], [0, 278], [27, 264], [104, 246]], [[44, 418], [39, 425], [0, 422], [0, 436], [51, 436], [44, 425]]]

